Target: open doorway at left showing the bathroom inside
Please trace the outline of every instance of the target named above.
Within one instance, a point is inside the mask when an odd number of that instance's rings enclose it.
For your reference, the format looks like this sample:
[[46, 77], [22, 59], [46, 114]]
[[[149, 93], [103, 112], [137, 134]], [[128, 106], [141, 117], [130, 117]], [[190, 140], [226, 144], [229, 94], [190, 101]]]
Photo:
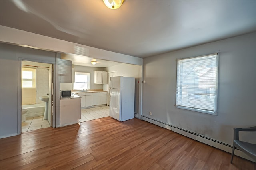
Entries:
[[21, 132], [52, 126], [52, 64], [22, 61]]

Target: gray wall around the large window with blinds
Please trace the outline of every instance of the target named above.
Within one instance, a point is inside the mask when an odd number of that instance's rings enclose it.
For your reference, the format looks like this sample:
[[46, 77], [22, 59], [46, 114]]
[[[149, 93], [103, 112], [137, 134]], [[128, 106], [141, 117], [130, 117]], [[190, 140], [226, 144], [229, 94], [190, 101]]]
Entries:
[[[255, 44], [256, 32], [145, 58], [143, 115], [232, 144], [233, 127], [256, 126]], [[219, 53], [218, 115], [176, 108], [176, 59], [211, 53]], [[256, 143], [252, 133], [242, 138]]]

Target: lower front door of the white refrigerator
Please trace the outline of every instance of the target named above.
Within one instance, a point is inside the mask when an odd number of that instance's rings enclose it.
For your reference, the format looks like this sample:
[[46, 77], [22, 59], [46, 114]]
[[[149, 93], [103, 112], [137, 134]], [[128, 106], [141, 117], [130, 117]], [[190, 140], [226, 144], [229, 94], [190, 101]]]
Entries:
[[122, 89], [110, 89], [110, 105], [109, 105], [109, 116], [121, 120], [121, 99]]

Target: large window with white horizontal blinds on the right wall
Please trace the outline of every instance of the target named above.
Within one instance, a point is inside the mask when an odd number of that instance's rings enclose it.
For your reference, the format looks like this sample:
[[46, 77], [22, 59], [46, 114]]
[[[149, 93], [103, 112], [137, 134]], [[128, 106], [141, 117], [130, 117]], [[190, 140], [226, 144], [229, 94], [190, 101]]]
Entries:
[[177, 108], [216, 115], [217, 85], [217, 53], [177, 61]]

